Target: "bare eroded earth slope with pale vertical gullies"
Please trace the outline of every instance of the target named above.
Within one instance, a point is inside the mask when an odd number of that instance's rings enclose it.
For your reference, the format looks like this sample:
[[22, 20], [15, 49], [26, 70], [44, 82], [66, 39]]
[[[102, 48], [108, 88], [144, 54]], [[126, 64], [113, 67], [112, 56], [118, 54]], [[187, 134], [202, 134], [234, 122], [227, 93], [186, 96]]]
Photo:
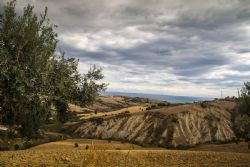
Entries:
[[124, 140], [164, 147], [228, 141], [232, 131], [230, 101], [187, 104], [85, 121], [74, 133], [83, 138]]

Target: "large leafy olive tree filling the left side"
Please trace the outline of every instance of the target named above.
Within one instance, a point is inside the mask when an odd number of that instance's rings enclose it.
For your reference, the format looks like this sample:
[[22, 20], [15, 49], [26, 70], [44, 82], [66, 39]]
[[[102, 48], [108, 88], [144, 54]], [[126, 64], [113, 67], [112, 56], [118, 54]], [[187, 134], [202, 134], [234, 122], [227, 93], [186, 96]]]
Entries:
[[100, 69], [79, 74], [78, 60], [55, 54], [56, 26], [47, 19], [47, 8], [38, 16], [28, 5], [18, 15], [15, 4], [7, 3], [0, 16], [0, 124], [32, 136], [50, 116], [51, 105], [65, 121], [69, 102], [91, 104], [106, 84], [96, 82], [103, 78]]

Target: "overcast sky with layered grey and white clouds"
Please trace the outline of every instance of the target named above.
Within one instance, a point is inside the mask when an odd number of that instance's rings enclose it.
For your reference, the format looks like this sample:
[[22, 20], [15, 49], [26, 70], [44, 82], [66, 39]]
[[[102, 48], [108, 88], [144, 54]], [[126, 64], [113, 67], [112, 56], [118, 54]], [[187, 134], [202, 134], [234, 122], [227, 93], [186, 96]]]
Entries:
[[[3, 6], [7, 0], [0, 0]], [[108, 91], [237, 95], [250, 79], [250, 0], [17, 0], [48, 7], [58, 50]]]

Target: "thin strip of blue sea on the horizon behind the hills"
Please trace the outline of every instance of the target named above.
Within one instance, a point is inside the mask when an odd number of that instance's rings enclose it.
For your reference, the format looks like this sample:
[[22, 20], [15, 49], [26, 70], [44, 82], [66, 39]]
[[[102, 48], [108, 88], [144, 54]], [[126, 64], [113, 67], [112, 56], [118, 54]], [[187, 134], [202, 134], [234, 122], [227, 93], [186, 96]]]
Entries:
[[174, 96], [174, 95], [160, 95], [160, 94], [146, 94], [146, 93], [109, 92], [109, 91], [105, 92], [104, 95], [142, 97], [142, 98], [163, 100], [170, 103], [193, 103], [193, 102], [214, 99], [211, 97]]

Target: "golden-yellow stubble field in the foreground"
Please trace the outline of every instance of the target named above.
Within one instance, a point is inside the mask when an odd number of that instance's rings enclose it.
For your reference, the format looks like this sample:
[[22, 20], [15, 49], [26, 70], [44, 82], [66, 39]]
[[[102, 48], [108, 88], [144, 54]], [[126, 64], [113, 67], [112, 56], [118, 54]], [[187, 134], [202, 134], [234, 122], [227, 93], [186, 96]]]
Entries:
[[[79, 147], [74, 147], [75, 142]], [[29, 150], [0, 152], [1, 167], [249, 166], [249, 162], [248, 153], [156, 150], [113, 141], [93, 144], [90, 140], [68, 140]]]

